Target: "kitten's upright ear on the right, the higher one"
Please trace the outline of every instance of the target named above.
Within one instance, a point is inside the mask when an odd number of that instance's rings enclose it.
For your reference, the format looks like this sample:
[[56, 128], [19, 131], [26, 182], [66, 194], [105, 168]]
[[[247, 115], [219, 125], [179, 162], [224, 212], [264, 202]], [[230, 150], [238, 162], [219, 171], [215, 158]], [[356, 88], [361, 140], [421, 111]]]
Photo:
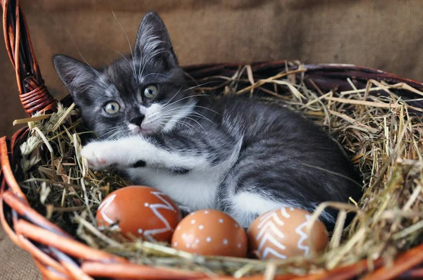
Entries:
[[157, 13], [149, 12], [142, 18], [135, 43], [135, 54], [147, 59], [157, 57], [169, 67], [178, 65], [166, 26]]

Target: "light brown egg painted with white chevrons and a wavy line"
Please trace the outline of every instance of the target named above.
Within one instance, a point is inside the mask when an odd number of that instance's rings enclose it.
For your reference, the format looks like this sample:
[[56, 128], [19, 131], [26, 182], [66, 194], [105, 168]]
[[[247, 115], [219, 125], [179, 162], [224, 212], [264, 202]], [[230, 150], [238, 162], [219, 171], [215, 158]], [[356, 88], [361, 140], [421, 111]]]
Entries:
[[329, 234], [317, 220], [307, 235], [311, 216], [305, 210], [288, 207], [264, 213], [247, 230], [250, 249], [264, 260], [321, 252], [329, 242]]

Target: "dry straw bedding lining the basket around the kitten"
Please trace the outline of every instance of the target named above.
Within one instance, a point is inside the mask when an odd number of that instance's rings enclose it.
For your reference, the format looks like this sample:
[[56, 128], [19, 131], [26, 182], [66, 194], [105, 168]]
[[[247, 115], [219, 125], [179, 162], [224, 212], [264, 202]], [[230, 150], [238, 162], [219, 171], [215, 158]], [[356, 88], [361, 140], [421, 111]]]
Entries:
[[[313, 257], [293, 257], [278, 262], [231, 257], [200, 257], [169, 248], [163, 243], [123, 239], [116, 232], [99, 231], [94, 218], [102, 199], [130, 182], [117, 174], [92, 172], [80, 156], [84, 139], [94, 136], [82, 125], [74, 105], [52, 115], [38, 115], [28, 122], [30, 134], [20, 146], [20, 180], [32, 208], [94, 248], [152, 266], [178, 267], [207, 274], [277, 273], [305, 274], [333, 269], [357, 260], [382, 257], [389, 265], [396, 255], [423, 236], [423, 123], [421, 108], [395, 94], [402, 88], [423, 96], [405, 84], [388, 85], [369, 80], [366, 89], [321, 92], [305, 86], [298, 70], [255, 80], [249, 66], [233, 77], [195, 81], [195, 90], [212, 94], [260, 96], [304, 113], [330, 132], [363, 175], [364, 196], [350, 203], [323, 203], [341, 211], [329, 247]], [[248, 72], [248, 78], [242, 78]], [[300, 75], [299, 75], [300, 74]], [[295, 76], [296, 75], [296, 76]], [[214, 87], [207, 87], [214, 81]], [[220, 82], [219, 82], [220, 81]], [[218, 82], [216, 84], [216, 82]], [[207, 85], [203, 84], [207, 83]], [[384, 94], [372, 95], [372, 92]], [[347, 211], [357, 215], [343, 229]]]

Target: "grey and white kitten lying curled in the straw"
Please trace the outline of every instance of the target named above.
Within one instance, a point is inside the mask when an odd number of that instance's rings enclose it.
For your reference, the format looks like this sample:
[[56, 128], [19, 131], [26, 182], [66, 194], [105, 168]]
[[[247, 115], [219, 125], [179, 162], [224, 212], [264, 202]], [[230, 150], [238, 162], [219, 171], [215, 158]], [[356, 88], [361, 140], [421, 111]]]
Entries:
[[[82, 148], [94, 170], [117, 167], [185, 212], [223, 210], [243, 227], [290, 206], [361, 196], [360, 178], [326, 133], [279, 106], [196, 95], [156, 13], [143, 18], [133, 56], [97, 70], [67, 56], [54, 65], [99, 139]], [[335, 210], [321, 218], [331, 227]]]

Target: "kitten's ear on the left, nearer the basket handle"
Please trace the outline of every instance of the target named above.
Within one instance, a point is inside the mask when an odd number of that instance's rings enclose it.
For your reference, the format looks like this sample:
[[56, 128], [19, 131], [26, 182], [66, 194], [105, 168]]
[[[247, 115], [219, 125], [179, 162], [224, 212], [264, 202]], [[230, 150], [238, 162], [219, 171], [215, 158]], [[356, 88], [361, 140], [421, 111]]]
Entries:
[[74, 58], [56, 55], [53, 57], [53, 63], [59, 77], [73, 96], [85, 91], [95, 80], [96, 70]]

